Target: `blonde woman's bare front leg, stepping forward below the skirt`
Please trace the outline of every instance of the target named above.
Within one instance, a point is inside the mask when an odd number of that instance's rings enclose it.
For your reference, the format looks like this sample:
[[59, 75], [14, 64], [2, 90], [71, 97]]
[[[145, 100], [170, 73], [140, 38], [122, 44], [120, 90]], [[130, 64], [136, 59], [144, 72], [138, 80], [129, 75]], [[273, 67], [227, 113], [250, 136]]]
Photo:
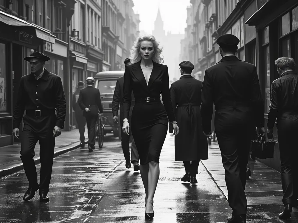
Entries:
[[153, 197], [156, 191], [158, 179], [159, 163], [155, 161], [150, 161], [148, 171], [148, 198], [146, 203], [146, 213], [153, 213]]

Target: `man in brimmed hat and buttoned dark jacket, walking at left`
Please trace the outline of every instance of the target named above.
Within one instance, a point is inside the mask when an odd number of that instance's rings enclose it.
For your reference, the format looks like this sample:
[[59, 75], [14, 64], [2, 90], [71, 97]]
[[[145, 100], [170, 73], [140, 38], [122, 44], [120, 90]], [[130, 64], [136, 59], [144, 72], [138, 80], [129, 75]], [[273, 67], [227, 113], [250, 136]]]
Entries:
[[[52, 175], [55, 137], [61, 134], [66, 116], [66, 100], [61, 78], [44, 68], [50, 58], [40, 52], [25, 57], [31, 66], [31, 73], [21, 77], [18, 98], [13, 112], [13, 136], [18, 138], [23, 119], [21, 135], [21, 160], [29, 181], [24, 200], [34, 197], [39, 189], [40, 201], [48, 202], [49, 184]], [[24, 115], [24, 111], [26, 114]], [[55, 115], [55, 110], [57, 115]], [[40, 184], [33, 157], [34, 148], [40, 145]]]

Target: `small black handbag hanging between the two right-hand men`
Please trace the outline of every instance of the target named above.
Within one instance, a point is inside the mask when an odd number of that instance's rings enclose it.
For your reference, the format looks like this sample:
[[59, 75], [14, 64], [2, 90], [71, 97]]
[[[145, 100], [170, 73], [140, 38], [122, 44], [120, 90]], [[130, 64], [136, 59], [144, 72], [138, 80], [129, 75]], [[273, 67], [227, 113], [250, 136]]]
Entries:
[[257, 140], [252, 140], [252, 156], [259, 159], [273, 158], [274, 154], [274, 141], [267, 141], [262, 134], [258, 135]]

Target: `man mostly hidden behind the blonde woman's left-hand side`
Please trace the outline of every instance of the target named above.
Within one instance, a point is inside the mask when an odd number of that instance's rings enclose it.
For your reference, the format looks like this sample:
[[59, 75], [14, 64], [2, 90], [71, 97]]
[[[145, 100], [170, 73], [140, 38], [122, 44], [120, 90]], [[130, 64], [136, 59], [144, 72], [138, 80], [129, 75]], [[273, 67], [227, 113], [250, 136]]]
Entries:
[[[124, 60], [125, 68], [131, 64], [131, 60], [126, 58]], [[123, 98], [123, 84], [124, 84], [124, 76], [119, 77], [116, 82], [116, 87], [114, 91], [114, 96], [113, 96], [113, 103], [112, 103], [112, 112], [113, 112], [113, 120], [114, 123], [118, 122], [118, 111], [119, 111], [119, 106], [120, 106], [120, 120], [123, 120], [122, 118], [122, 98]], [[135, 104], [135, 98], [134, 94], [131, 91], [131, 108], [129, 112], [129, 117], [128, 117], [128, 122], [131, 123], [131, 112], [132, 109], [134, 108]], [[123, 122], [120, 122], [120, 129], [122, 129]], [[129, 152], [129, 140], [131, 138], [131, 158], [130, 158], [130, 152]], [[140, 169], [139, 166], [139, 153], [138, 150], [136, 149], [136, 144], [134, 142], [134, 137], [131, 134], [130, 131], [130, 136], [124, 134], [123, 131], [121, 131], [121, 146], [123, 150], [123, 155], [125, 158], [125, 167], [127, 169], [131, 168], [131, 163], [134, 164], [134, 171], [138, 171]], [[131, 161], [130, 161], [131, 159]]]

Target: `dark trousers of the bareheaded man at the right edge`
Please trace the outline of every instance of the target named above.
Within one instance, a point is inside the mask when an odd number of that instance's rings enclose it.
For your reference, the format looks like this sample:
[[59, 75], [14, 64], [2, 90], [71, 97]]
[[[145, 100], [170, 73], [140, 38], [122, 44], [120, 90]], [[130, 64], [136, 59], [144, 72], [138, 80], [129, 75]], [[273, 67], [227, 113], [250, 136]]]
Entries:
[[298, 113], [284, 112], [277, 118], [283, 203], [296, 206], [298, 198]]

